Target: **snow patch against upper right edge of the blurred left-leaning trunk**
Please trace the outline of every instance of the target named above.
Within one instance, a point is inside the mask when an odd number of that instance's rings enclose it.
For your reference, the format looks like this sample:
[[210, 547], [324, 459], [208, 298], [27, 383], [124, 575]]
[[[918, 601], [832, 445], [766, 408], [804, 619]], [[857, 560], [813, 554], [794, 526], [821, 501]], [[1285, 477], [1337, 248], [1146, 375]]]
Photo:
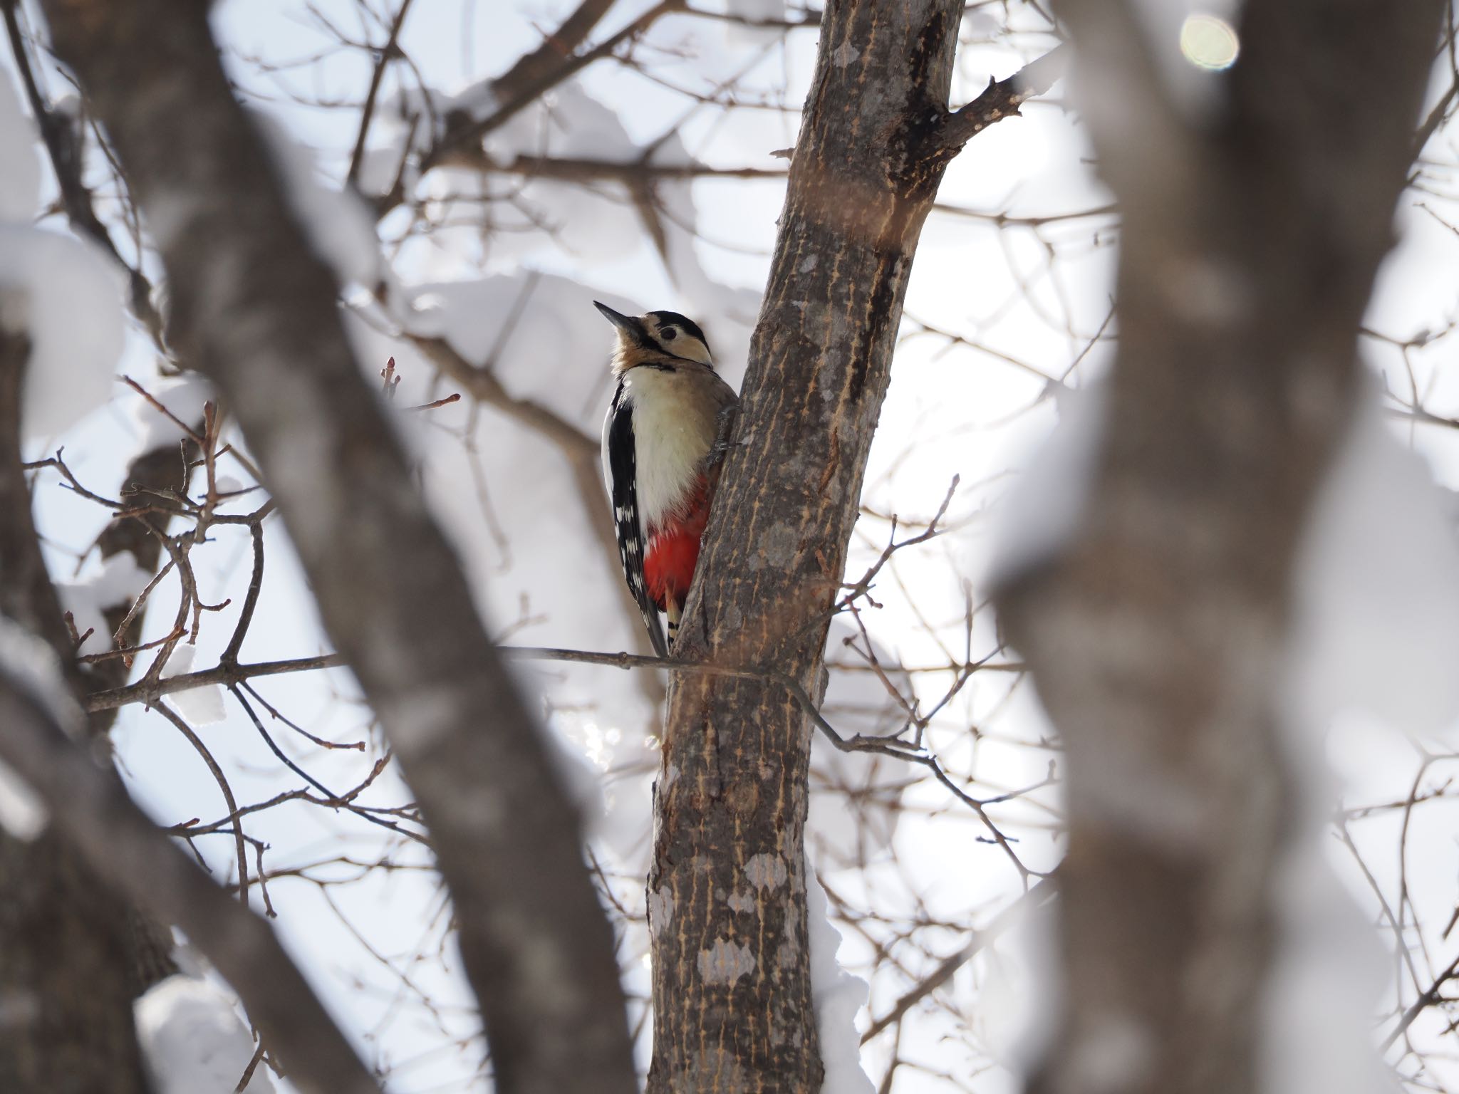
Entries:
[[343, 284], [374, 289], [384, 271], [375, 216], [353, 190], [333, 190], [320, 181], [314, 152], [299, 144], [283, 123], [254, 114], [258, 131], [273, 150], [285, 195], [314, 252]]

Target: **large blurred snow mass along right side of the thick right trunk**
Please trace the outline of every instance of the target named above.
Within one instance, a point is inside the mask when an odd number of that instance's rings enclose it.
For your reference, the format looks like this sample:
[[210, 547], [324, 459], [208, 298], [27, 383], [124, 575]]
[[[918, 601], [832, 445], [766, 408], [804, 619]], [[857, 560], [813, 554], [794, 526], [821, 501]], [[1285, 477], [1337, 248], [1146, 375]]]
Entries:
[[1263, 1088], [1392, 1090], [1363, 1036], [1385, 957], [1323, 856], [1336, 796], [1323, 744], [1352, 719], [1431, 735], [1459, 716], [1459, 543], [1452, 497], [1383, 424], [1371, 391], [1313, 508], [1294, 586], [1281, 715], [1301, 785], [1296, 834], [1274, 871], [1280, 929], [1259, 1024]]

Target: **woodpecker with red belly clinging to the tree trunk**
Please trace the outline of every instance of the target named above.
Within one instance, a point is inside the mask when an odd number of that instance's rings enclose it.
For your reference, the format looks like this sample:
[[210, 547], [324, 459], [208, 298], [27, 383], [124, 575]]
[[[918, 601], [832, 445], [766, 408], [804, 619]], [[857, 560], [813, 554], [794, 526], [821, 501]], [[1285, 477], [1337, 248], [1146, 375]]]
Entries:
[[[617, 328], [603, 478], [619, 557], [654, 652], [668, 656], [740, 397], [715, 372], [693, 319], [678, 312], [622, 315], [597, 300], [594, 306]], [[661, 611], [668, 616], [668, 642]]]

